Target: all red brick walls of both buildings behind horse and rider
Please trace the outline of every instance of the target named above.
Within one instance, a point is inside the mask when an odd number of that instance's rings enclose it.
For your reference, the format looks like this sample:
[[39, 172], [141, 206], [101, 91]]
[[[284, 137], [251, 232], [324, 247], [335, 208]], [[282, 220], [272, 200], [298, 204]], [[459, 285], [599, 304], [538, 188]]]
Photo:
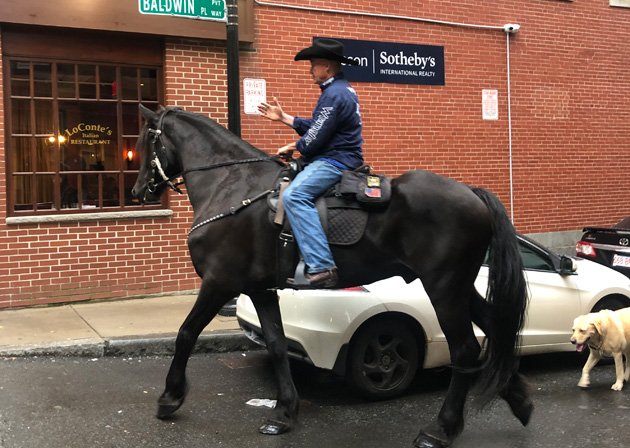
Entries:
[[[300, 5], [331, 7], [314, 0]], [[611, 8], [606, 0], [526, 0], [518, 9], [500, 1], [348, 0], [338, 7], [521, 24], [510, 45], [518, 230], [577, 230], [630, 214], [630, 9]], [[354, 83], [366, 160], [391, 175], [423, 168], [487, 187], [509, 206], [502, 31], [267, 6], [255, 10], [257, 37], [252, 51], [241, 52], [241, 78], [266, 79], [268, 97], [277, 96], [296, 115], [309, 115], [319, 95], [308, 63], [293, 61], [312, 36], [444, 46], [445, 86]], [[167, 39], [165, 53], [166, 103], [226, 125], [224, 43]], [[481, 119], [482, 89], [499, 91], [498, 121]], [[3, 106], [0, 101], [0, 172], [5, 172]], [[246, 140], [270, 152], [295, 138], [290, 129], [257, 116], [243, 115], [242, 128]], [[0, 216], [6, 216], [4, 185]], [[38, 225], [0, 220], [0, 307], [196, 288], [186, 248], [190, 206], [176, 195], [170, 205], [172, 218]]]

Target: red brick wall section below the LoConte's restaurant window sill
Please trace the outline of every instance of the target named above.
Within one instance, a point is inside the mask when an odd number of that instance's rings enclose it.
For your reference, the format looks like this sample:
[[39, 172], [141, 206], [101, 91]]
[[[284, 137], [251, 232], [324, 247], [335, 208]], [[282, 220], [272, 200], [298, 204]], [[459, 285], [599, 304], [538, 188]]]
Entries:
[[0, 306], [191, 290], [179, 219], [9, 226], [0, 229]]

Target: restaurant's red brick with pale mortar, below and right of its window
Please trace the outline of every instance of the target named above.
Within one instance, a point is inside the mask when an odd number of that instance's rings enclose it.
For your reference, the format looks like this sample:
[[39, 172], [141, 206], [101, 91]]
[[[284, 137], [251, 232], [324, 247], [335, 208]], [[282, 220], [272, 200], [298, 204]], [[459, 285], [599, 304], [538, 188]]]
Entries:
[[[225, 121], [224, 49], [166, 45], [166, 103]], [[1, 59], [0, 59], [1, 62]], [[0, 71], [1, 73], [1, 71]], [[0, 148], [4, 148], [0, 101]], [[0, 169], [5, 172], [4, 151]], [[186, 247], [191, 208], [171, 195], [172, 218], [7, 225], [0, 221], [0, 308], [196, 289]], [[0, 214], [6, 216], [6, 188]]]

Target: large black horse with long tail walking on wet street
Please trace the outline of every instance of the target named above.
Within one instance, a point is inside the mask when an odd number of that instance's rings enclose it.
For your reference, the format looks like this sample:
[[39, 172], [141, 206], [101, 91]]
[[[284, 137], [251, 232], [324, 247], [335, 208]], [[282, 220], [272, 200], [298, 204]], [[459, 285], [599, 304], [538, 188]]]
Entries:
[[[182, 324], [158, 418], [167, 418], [188, 392], [186, 365], [197, 337], [219, 309], [240, 293], [256, 307], [275, 368], [277, 405], [264, 434], [290, 430], [298, 394], [287, 358], [278, 298], [276, 257], [280, 229], [268, 219], [266, 201], [281, 166], [278, 160], [234, 136], [214, 121], [180, 109], [153, 112], [138, 148], [142, 165], [133, 194], [154, 200], [182, 176], [194, 209], [188, 247], [201, 277], [197, 301]], [[392, 180], [391, 201], [372, 212], [360, 241], [333, 247], [339, 287], [394, 275], [416, 278], [433, 304], [448, 341], [453, 373], [437, 418], [423, 428], [416, 447], [445, 447], [464, 426], [464, 403], [479, 380], [483, 396], [499, 395], [525, 425], [533, 410], [515, 354], [527, 302], [515, 231], [496, 197], [427, 171]], [[489, 254], [488, 294], [473, 282]], [[487, 336], [481, 350], [475, 322]], [[481, 358], [480, 358], [481, 354]]]

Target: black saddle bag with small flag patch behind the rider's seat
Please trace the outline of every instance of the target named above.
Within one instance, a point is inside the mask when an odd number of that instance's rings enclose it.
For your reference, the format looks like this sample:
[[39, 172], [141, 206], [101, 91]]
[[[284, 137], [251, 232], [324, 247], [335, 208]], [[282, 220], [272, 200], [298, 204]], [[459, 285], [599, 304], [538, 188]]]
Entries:
[[389, 203], [392, 190], [386, 176], [364, 171], [344, 171], [339, 183], [339, 194], [354, 196], [367, 208], [378, 208]]

